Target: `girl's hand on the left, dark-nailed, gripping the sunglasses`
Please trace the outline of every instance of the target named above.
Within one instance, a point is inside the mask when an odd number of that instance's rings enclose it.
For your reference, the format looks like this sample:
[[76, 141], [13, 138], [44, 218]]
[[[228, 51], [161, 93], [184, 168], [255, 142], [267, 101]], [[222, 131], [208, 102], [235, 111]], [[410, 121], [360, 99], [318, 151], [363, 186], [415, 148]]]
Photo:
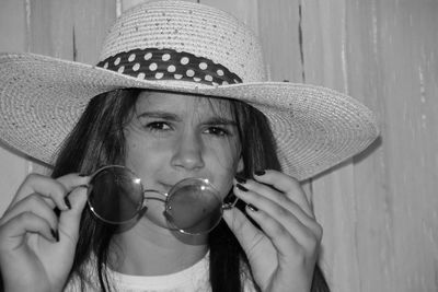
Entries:
[[73, 262], [88, 179], [31, 174], [20, 186], [0, 219], [4, 291], [62, 290]]

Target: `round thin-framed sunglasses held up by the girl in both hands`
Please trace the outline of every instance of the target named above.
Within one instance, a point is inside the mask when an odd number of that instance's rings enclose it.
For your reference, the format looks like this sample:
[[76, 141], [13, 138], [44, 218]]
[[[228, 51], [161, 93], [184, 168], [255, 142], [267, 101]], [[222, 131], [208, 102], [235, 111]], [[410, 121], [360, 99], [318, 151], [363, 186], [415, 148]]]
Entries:
[[[232, 197], [232, 198], [230, 198]], [[125, 224], [146, 217], [153, 223], [184, 234], [205, 234], [220, 222], [226, 200], [206, 178], [185, 178], [168, 194], [147, 189], [141, 179], [123, 165], [107, 165], [91, 175], [88, 203], [92, 213], [108, 224]]]

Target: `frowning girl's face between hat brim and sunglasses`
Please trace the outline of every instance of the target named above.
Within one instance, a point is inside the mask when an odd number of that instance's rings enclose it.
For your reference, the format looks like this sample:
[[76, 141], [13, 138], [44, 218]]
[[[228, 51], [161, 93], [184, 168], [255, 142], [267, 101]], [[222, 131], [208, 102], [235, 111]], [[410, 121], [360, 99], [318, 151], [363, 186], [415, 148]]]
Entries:
[[143, 92], [126, 127], [126, 166], [147, 189], [169, 192], [188, 177], [208, 178], [222, 196], [243, 168], [229, 102]]

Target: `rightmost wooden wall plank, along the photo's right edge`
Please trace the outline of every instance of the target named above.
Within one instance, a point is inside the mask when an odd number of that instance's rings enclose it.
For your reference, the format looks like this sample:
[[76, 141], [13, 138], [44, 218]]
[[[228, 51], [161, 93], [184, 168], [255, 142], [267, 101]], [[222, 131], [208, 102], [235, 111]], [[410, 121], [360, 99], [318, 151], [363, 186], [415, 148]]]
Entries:
[[379, 2], [394, 290], [437, 291], [436, 1]]

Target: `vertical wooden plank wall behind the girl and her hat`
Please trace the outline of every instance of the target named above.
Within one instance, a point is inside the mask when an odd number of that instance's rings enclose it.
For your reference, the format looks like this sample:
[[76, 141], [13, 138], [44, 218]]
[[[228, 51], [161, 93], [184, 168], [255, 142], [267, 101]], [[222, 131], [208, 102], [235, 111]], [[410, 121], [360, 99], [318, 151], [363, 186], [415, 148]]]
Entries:
[[[89, 63], [139, 0], [1, 0], [0, 50]], [[261, 36], [269, 78], [326, 85], [372, 108], [382, 136], [309, 182], [333, 291], [438, 290], [438, 1], [200, 0]], [[30, 172], [0, 148], [0, 213]]]

